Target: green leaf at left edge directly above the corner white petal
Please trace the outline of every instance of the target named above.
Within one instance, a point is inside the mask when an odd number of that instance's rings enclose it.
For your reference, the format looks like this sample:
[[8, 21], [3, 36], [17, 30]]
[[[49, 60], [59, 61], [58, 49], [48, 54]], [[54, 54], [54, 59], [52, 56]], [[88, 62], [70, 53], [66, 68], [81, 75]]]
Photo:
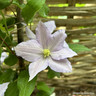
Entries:
[[11, 69], [4, 70], [4, 72], [0, 75], [0, 84], [13, 81], [15, 74], [16, 72]]

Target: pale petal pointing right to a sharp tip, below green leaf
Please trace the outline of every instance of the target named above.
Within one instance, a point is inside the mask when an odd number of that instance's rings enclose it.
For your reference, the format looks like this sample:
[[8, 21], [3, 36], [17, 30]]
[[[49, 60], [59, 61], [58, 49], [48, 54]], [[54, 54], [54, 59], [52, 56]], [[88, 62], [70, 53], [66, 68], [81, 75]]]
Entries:
[[65, 59], [65, 58], [73, 57], [75, 55], [77, 55], [77, 53], [72, 51], [68, 47], [63, 48], [63, 49], [56, 51], [56, 52], [51, 52], [51, 56], [55, 60]]

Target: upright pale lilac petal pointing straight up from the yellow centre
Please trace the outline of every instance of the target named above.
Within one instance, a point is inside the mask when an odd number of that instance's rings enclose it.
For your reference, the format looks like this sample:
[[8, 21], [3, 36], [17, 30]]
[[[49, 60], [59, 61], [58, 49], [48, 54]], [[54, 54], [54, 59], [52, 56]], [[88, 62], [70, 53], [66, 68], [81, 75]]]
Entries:
[[36, 38], [44, 49], [48, 47], [48, 40], [50, 37], [51, 33], [49, 29], [45, 26], [43, 22], [40, 21], [36, 28]]

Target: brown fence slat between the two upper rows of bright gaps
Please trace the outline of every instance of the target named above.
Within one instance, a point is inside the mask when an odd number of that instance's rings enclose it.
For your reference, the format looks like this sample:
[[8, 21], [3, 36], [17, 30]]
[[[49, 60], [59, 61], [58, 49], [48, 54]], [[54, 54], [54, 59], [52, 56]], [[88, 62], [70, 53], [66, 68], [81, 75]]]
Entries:
[[49, 16], [96, 16], [94, 7], [50, 7]]

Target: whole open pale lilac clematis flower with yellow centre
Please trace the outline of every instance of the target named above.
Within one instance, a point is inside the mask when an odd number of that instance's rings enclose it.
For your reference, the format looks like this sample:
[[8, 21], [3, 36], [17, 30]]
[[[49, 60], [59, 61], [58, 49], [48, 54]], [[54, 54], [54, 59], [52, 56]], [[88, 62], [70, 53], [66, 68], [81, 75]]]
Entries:
[[65, 39], [65, 30], [52, 32], [56, 28], [54, 21], [39, 22], [36, 35], [26, 27], [27, 36], [31, 39], [15, 47], [17, 56], [21, 56], [29, 65], [29, 81], [48, 66], [56, 72], [71, 72], [72, 66], [67, 58], [77, 55], [72, 51]]

